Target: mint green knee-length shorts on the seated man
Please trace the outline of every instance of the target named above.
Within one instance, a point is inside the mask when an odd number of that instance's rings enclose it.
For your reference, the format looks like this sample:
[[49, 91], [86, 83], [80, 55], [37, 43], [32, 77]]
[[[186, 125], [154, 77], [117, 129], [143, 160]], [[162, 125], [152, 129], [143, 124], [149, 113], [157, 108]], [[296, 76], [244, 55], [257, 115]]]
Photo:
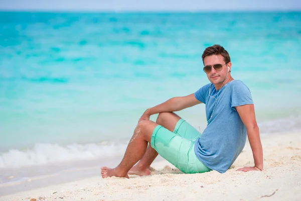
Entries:
[[180, 119], [174, 132], [158, 125], [150, 140], [150, 145], [167, 161], [184, 173], [211, 171], [196, 156], [195, 140], [201, 136], [193, 126]]

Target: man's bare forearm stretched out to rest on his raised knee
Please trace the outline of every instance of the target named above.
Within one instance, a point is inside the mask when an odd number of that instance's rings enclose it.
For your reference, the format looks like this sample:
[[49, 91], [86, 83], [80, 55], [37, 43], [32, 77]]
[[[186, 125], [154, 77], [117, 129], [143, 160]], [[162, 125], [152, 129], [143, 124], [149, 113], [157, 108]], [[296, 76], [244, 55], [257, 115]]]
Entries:
[[139, 122], [142, 120], [149, 120], [149, 116], [154, 114], [181, 111], [201, 103], [202, 102], [200, 102], [193, 93], [186, 96], [173, 97], [160, 105], [147, 109], [141, 116]]

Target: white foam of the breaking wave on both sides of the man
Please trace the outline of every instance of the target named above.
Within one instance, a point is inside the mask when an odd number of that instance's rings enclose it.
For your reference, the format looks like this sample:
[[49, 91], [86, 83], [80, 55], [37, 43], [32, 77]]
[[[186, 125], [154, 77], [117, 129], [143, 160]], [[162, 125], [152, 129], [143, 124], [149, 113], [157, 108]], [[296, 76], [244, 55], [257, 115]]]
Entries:
[[[258, 123], [261, 134], [287, 133], [301, 130], [301, 116], [291, 116]], [[19, 168], [60, 162], [95, 160], [122, 156], [127, 143], [90, 143], [62, 146], [38, 143], [26, 150], [10, 149], [0, 153], [0, 168]]]

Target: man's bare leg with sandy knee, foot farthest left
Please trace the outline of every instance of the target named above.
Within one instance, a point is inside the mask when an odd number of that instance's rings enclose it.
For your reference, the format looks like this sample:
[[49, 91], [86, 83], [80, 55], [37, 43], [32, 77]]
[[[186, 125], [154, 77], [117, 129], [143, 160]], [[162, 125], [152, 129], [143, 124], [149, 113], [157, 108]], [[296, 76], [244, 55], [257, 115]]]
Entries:
[[108, 167], [101, 167], [102, 178], [117, 176], [127, 177], [129, 169], [138, 162], [145, 154], [147, 143], [150, 142], [153, 131], [158, 126], [152, 121], [141, 121], [137, 124], [134, 134], [129, 141], [123, 159], [120, 164], [111, 169]]

